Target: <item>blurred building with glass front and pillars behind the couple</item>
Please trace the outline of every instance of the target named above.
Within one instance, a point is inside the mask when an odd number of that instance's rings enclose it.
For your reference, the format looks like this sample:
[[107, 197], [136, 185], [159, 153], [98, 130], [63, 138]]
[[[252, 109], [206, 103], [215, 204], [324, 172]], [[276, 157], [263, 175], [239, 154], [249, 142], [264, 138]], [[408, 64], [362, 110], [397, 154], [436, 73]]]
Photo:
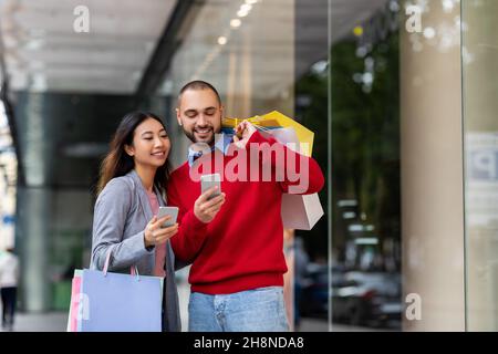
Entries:
[[0, 247], [21, 257], [20, 308], [66, 311], [121, 117], [163, 116], [178, 165], [176, 94], [201, 79], [231, 116], [315, 133], [325, 216], [286, 240], [295, 330], [497, 331], [496, 33], [495, 0], [0, 1]]

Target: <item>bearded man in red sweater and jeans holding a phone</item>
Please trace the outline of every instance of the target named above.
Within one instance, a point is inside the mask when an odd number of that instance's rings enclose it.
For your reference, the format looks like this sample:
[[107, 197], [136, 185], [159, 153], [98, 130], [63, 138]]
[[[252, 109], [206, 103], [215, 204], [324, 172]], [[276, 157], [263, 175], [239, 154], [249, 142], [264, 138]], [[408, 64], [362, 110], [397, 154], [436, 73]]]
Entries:
[[[312, 158], [263, 137], [247, 121], [236, 128], [232, 144], [215, 144], [222, 115], [219, 94], [210, 84], [194, 81], [181, 88], [178, 124], [195, 146], [208, 147], [204, 154], [191, 147], [188, 162], [172, 174], [167, 188], [168, 204], [179, 208], [179, 230], [172, 238], [175, 257], [193, 263], [189, 331], [288, 331], [282, 194], [317, 192], [323, 174]], [[255, 165], [249, 155], [266, 157]], [[304, 188], [303, 180], [287, 174], [290, 165], [304, 176]], [[196, 201], [198, 177], [214, 173], [221, 175], [222, 195], [199, 208], [212, 189]]]

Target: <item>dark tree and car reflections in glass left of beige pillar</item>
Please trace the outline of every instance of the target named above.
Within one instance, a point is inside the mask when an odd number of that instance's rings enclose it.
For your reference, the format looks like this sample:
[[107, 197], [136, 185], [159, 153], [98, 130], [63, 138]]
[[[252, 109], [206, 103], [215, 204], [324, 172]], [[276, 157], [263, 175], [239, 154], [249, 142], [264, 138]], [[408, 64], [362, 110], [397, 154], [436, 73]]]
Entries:
[[401, 329], [400, 7], [364, 8], [367, 20], [352, 18], [331, 49], [331, 302], [339, 331]]

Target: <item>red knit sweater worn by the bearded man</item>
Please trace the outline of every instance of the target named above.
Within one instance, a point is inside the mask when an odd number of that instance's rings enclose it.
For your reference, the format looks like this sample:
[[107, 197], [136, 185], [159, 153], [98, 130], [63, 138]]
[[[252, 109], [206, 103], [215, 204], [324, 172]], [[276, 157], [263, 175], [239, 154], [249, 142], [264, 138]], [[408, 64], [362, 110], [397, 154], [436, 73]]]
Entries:
[[[269, 143], [263, 144], [266, 147], [278, 144], [258, 132], [251, 136], [247, 148], [251, 143]], [[272, 155], [271, 160], [267, 158], [261, 164], [271, 164], [277, 170], [279, 164], [286, 164], [289, 158], [294, 158], [294, 166], [299, 166], [300, 158], [305, 158], [309, 163], [309, 185], [303, 194], [317, 192], [323, 187], [323, 174], [314, 159], [287, 147], [284, 154], [286, 159], [276, 159]], [[226, 194], [226, 201], [209, 223], [201, 222], [194, 215], [194, 202], [200, 195], [200, 181], [191, 179], [188, 163], [178, 167], [168, 183], [168, 205], [179, 208], [179, 230], [172, 238], [172, 246], [177, 259], [193, 262], [189, 274], [193, 292], [227, 294], [283, 284], [287, 266], [283, 257], [281, 200], [282, 194], [299, 183], [291, 183], [288, 178], [276, 181], [274, 175], [271, 181], [229, 181], [224, 171], [230, 169], [227, 166], [236, 156], [216, 150], [197, 159], [191, 167], [211, 164], [209, 173], [222, 176], [221, 190]], [[216, 158], [222, 162], [222, 166], [215, 163]], [[249, 164], [247, 166], [249, 170]], [[297, 171], [300, 173], [299, 168]]]

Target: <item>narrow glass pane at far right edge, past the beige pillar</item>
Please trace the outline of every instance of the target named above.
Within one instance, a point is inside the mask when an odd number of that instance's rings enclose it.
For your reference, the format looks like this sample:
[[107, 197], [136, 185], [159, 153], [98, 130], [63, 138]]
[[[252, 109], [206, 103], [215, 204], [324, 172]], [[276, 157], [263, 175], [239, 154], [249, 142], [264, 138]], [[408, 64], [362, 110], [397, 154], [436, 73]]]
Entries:
[[466, 319], [498, 331], [498, 3], [463, 1]]

